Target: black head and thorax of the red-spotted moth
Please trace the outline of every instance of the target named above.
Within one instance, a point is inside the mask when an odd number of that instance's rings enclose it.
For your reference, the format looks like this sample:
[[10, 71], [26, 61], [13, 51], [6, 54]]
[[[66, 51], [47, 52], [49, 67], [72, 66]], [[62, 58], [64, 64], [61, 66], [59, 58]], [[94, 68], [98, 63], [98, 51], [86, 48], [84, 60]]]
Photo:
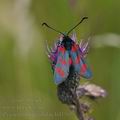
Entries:
[[64, 36], [62, 44], [64, 45], [66, 50], [71, 50], [72, 45], [73, 45], [73, 41], [68, 36]]

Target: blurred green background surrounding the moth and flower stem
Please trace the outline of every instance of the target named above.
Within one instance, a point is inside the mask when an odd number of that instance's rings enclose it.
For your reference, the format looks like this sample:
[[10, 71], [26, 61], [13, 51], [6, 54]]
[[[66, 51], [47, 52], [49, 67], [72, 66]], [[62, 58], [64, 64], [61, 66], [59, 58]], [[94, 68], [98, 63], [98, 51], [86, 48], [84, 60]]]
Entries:
[[120, 120], [119, 0], [0, 0], [0, 120], [76, 120], [56, 96], [45, 52], [55, 32], [42, 22], [67, 31], [83, 16], [78, 39], [92, 35], [88, 61], [91, 82], [108, 92], [94, 103], [96, 120]]

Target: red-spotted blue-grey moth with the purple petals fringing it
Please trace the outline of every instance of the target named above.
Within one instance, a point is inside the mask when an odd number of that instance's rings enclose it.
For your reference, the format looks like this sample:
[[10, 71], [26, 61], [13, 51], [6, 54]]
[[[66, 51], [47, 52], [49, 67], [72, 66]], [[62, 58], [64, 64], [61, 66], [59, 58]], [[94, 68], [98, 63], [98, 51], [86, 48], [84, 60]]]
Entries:
[[52, 63], [54, 81], [57, 85], [67, 79], [70, 74], [71, 66], [74, 69], [74, 72], [78, 73], [81, 77], [86, 79], [92, 77], [92, 72], [85, 61], [89, 41], [81, 41], [80, 44], [78, 44], [75, 33], [73, 33], [72, 37], [68, 36], [73, 29], [87, 18], [88, 17], [83, 17], [78, 24], [67, 32], [67, 34], [52, 28], [47, 23], [42, 24], [42, 26], [45, 25], [61, 34], [60, 39], [55, 43], [53, 48], [49, 48], [47, 45], [48, 57]]

